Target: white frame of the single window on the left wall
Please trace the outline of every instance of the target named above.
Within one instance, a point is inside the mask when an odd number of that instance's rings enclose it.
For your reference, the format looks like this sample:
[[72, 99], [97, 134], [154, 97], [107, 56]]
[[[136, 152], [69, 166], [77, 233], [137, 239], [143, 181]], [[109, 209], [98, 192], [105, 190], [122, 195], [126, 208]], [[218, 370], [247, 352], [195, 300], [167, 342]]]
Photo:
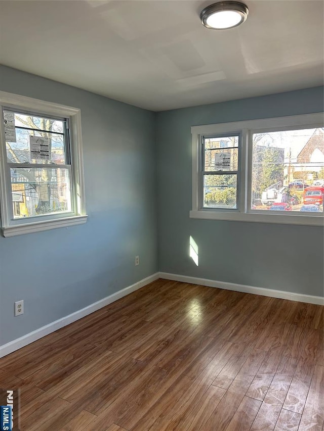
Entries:
[[69, 136], [71, 150], [71, 170], [72, 170], [72, 195], [73, 207], [68, 214], [49, 214], [44, 216], [26, 217], [13, 220], [11, 217], [11, 182], [7, 175], [7, 152], [4, 121], [1, 114], [0, 120], [0, 205], [2, 231], [4, 236], [15, 236], [25, 233], [39, 232], [43, 230], [55, 229], [58, 227], [68, 227], [83, 224], [87, 221], [85, 185], [83, 171], [83, 151], [82, 151], [82, 130], [81, 113], [77, 108], [45, 102], [38, 99], [21, 96], [19, 94], [0, 91], [0, 111], [3, 108], [13, 110], [24, 110], [35, 115], [47, 117], [63, 117], [69, 121]]

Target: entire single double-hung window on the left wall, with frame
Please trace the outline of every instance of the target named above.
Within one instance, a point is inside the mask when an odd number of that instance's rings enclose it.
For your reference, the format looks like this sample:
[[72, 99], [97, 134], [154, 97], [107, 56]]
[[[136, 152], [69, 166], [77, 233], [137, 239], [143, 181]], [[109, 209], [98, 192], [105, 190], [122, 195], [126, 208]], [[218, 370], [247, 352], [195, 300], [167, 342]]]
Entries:
[[85, 223], [80, 111], [0, 92], [5, 236]]

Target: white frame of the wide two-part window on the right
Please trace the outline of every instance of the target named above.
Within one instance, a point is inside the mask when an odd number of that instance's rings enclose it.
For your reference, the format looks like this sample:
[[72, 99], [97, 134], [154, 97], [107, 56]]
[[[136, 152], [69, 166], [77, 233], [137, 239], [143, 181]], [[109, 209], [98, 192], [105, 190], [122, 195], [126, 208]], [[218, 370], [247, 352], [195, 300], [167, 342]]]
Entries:
[[[237, 121], [232, 123], [207, 124], [192, 126], [192, 209], [190, 218], [207, 220], [231, 220], [257, 223], [300, 224], [323, 226], [323, 213], [298, 214], [282, 212], [251, 210], [252, 190], [252, 135], [255, 132], [278, 131], [291, 128], [319, 128], [323, 127], [323, 113], [295, 115], [289, 117], [264, 118], [260, 120]], [[204, 137], [231, 135], [241, 133], [240, 148], [240, 183], [237, 185], [239, 193], [239, 210], [224, 210], [217, 208], [201, 208], [201, 194], [203, 193], [201, 176], [201, 142]]]

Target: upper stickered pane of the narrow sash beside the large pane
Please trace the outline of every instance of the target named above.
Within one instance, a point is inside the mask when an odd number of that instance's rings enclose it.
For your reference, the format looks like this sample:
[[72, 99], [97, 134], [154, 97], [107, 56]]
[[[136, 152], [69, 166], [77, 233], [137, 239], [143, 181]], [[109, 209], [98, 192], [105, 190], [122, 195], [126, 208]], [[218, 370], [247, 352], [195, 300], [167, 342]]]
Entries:
[[205, 150], [205, 171], [237, 171], [238, 148]]

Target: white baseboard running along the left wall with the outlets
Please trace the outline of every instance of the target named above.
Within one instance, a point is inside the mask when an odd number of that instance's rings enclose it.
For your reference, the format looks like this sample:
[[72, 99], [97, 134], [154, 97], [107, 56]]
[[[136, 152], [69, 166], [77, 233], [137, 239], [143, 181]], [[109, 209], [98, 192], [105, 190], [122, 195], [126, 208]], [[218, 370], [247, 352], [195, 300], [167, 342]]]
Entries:
[[112, 295], [109, 295], [106, 298], [101, 299], [100, 301], [94, 302], [93, 304], [88, 305], [87, 307], [82, 308], [81, 310], [75, 311], [74, 313], [69, 314], [68, 316], [55, 320], [55, 322], [49, 323], [46, 326], [42, 326], [41, 328], [38, 328], [32, 332], [27, 333], [23, 337], [20, 337], [16, 340], [11, 341], [10, 343], [0, 346], [0, 358], [2, 358], [3, 356], [9, 355], [9, 353], [14, 352], [15, 350], [18, 350], [24, 346], [27, 346], [27, 344], [33, 343], [34, 341], [39, 340], [42, 337], [45, 337], [51, 332], [55, 332], [56, 330], [62, 328], [63, 326], [69, 325], [70, 323], [75, 322], [78, 319], [82, 319], [83, 317], [88, 316], [88, 314], [91, 314], [94, 311], [97, 311], [100, 308], [105, 307], [106, 305], [111, 304], [112, 302], [117, 301], [118, 299], [123, 298], [124, 296], [134, 291], [137, 291], [138, 289], [142, 288], [146, 284], [149, 284], [152, 281], [157, 280], [158, 278], [159, 278], [158, 272], [156, 272], [155, 274], [152, 274], [149, 277], [143, 278], [137, 283], [134, 283], [125, 289], [122, 289]]

